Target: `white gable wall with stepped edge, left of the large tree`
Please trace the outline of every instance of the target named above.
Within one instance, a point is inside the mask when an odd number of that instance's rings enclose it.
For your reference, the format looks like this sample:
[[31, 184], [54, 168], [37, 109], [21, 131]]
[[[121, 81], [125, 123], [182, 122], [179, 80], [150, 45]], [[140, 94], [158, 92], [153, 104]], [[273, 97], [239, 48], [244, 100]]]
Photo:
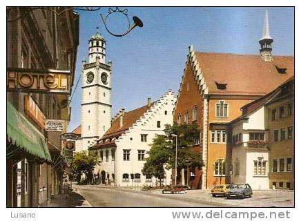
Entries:
[[[119, 140], [117, 140], [117, 148], [115, 152], [116, 163], [116, 184], [117, 186], [143, 186], [149, 184], [155, 184], [155, 177], [152, 182], [146, 182], [145, 176], [142, 175], [142, 168], [144, 161], [138, 160], [138, 150], [148, 151], [150, 149], [149, 144], [153, 142], [156, 134], [164, 134], [164, 124], [173, 124], [173, 108], [175, 106], [176, 97], [172, 91], [168, 91], [162, 98], [155, 102], [155, 105], [150, 111], [140, 117], [140, 119], [130, 128]], [[167, 111], [167, 115], [165, 115]], [[161, 122], [161, 127], [157, 128], [157, 121]], [[141, 142], [141, 134], [147, 134], [147, 142]], [[130, 140], [132, 138], [132, 140]], [[130, 160], [123, 160], [123, 150], [130, 149]], [[105, 155], [104, 155], [105, 156]], [[144, 156], [146, 158], [147, 155]], [[104, 158], [105, 159], [105, 158]], [[108, 163], [108, 164], [107, 164]], [[114, 162], [106, 162], [101, 164], [100, 171], [104, 170], [108, 173], [114, 173]], [[124, 173], [139, 173], [141, 182], [122, 182], [122, 175]], [[166, 184], [170, 183], [171, 171], [166, 173]]]

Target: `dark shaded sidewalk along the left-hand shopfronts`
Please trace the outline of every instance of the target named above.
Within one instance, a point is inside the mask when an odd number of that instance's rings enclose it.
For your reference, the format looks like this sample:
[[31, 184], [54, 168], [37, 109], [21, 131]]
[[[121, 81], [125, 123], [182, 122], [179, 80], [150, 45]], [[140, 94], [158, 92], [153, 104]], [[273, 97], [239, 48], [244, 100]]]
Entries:
[[55, 199], [51, 200], [46, 206], [41, 207], [91, 207], [90, 203], [78, 192], [72, 191], [70, 198], [66, 199], [65, 194], [55, 195]]

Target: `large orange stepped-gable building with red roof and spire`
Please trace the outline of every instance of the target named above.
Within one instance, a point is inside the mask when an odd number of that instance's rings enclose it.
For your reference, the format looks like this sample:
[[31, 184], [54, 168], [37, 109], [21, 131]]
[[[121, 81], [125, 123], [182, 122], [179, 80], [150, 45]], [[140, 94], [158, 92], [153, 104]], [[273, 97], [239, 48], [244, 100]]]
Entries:
[[[174, 122], [195, 121], [200, 127], [200, 144], [195, 148], [201, 151], [205, 166], [197, 176], [188, 176], [193, 188], [207, 189], [230, 182], [229, 122], [240, 117], [242, 106], [293, 76], [293, 57], [272, 56], [272, 42], [266, 12], [260, 55], [195, 52], [189, 46]], [[197, 117], [193, 118], [195, 107]]]

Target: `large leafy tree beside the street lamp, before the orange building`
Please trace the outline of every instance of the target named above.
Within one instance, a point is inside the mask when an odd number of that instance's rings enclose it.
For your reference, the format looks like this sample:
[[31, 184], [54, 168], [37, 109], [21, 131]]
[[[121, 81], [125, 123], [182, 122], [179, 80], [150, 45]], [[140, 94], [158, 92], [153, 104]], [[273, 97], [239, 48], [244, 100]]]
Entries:
[[200, 169], [204, 166], [202, 154], [195, 151], [195, 139], [199, 139], [200, 130], [197, 124], [174, 124], [166, 125], [165, 135], [156, 135], [153, 144], [150, 144], [150, 151], [142, 173], [154, 175], [159, 180], [164, 177], [164, 166], [166, 169], [175, 168], [175, 138], [177, 135], [177, 171], [182, 169]]

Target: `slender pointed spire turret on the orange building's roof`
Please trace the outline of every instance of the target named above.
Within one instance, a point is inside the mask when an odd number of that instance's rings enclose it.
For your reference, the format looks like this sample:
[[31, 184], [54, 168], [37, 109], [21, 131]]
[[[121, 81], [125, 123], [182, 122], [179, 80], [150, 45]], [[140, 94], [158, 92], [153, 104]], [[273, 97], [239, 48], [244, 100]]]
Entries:
[[268, 9], [266, 8], [262, 38], [259, 40], [260, 56], [264, 61], [273, 61], [272, 43], [273, 43], [273, 39], [270, 36]]

